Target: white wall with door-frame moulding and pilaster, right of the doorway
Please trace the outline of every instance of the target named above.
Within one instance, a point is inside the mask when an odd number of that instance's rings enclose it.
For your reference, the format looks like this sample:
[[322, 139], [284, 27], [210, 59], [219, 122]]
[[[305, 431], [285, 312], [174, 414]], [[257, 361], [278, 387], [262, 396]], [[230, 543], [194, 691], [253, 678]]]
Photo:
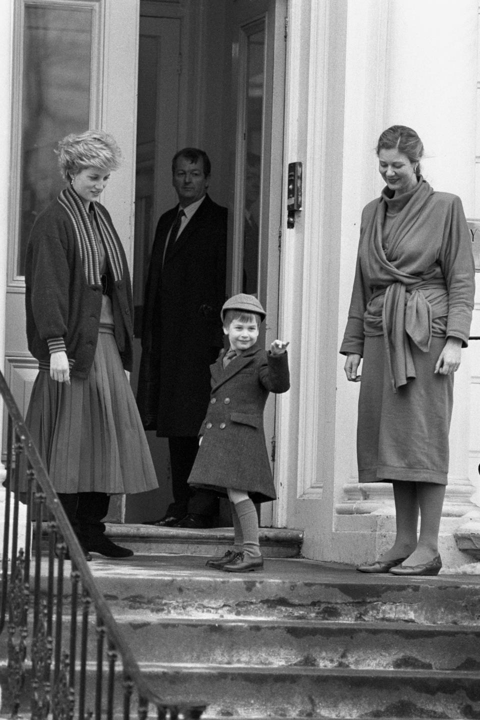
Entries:
[[[348, 315], [361, 210], [382, 182], [374, 152], [389, 125], [410, 125], [427, 179], [474, 212], [477, 0], [292, 0], [286, 163], [304, 162], [304, 210], [286, 230], [282, 332], [292, 388], [280, 401], [282, 513], [304, 527], [307, 557], [358, 562], [394, 531], [391, 486], [358, 485], [358, 387], [338, 355]], [[338, 215], [337, 215], [338, 213]], [[445, 513], [471, 507], [468, 361], [456, 377]], [[455, 519], [458, 524], [458, 520]], [[454, 559], [454, 521], [443, 523]]]

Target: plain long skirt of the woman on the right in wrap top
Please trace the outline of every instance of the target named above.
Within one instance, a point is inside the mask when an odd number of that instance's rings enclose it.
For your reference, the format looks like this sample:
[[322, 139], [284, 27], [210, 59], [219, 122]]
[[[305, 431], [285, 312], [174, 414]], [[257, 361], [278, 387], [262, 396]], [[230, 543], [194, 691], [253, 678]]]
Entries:
[[358, 399], [359, 482], [447, 484], [453, 374], [433, 371], [445, 338], [424, 353], [412, 343], [417, 377], [394, 392], [383, 336], [366, 337]]

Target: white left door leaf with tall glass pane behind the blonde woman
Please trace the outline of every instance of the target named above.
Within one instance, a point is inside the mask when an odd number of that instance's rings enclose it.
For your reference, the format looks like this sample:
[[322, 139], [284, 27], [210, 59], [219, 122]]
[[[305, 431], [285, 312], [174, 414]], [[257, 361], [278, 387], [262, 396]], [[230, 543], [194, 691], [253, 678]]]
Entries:
[[69, 132], [98, 127], [122, 148], [101, 202], [132, 269], [139, 0], [16, 0], [14, 12], [5, 375], [24, 415], [37, 374], [24, 253], [35, 217], [63, 187], [54, 149]]

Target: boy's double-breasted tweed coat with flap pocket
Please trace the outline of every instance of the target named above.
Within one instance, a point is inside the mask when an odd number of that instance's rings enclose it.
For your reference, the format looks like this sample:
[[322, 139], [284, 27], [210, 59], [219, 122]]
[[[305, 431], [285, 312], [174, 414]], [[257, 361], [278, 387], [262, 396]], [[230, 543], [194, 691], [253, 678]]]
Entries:
[[287, 354], [271, 355], [255, 343], [223, 369], [224, 355], [210, 366], [212, 392], [189, 485], [222, 495], [227, 487], [246, 490], [254, 503], [274, 500], [263, 408], [269, 392], [289, 390]]

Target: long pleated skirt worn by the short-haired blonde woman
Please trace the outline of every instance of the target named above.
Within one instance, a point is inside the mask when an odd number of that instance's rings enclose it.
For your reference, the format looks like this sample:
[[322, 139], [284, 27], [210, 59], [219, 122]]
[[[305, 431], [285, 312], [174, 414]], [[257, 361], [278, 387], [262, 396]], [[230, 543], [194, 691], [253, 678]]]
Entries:
[[40, 370], [25, 418], [57, 492], [134, 493], [158, 487], [113, 328], [101, 328], [86, 379]]

